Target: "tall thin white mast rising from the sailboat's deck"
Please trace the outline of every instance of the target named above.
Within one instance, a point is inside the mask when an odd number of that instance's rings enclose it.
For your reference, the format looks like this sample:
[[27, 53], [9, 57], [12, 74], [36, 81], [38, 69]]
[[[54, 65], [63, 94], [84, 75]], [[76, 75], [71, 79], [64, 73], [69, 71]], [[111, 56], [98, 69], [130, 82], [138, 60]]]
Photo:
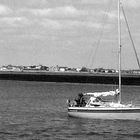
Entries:
[[118, 102], [121, 103], [121, 20], [120, 20], [120, 6], [121, 2], [118, 0], [118, 47], [119, 47], [119, 99]]

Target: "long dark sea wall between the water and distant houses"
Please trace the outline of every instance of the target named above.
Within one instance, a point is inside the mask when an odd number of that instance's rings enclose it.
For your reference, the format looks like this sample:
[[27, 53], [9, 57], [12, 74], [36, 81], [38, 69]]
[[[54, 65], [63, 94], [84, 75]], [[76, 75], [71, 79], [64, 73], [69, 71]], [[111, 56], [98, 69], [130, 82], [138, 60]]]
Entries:
[[[0, 72], [0, 80], [118, 84], [118, 73]], [[123, 74], [122, 85], [140, 85], [140, 74]]]

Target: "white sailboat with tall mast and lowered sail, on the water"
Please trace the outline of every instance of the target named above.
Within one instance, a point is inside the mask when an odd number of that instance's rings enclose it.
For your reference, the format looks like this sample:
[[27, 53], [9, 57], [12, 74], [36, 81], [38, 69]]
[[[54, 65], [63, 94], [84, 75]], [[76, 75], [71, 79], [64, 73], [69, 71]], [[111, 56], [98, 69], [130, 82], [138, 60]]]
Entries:
[[[140, 106], [122, 104], [121, 101], [121, 21], [118, 0], [118, 46], [119, 46], [119, 88], [115, 91], [80, 93], [75, 100], [67, 100], [68, 116], [90, 119], [140, 120]], [[117, 101], [105, 101], [102, 97], [115, 96]], [[85, 100], [85, 98], [87, 100]]]

